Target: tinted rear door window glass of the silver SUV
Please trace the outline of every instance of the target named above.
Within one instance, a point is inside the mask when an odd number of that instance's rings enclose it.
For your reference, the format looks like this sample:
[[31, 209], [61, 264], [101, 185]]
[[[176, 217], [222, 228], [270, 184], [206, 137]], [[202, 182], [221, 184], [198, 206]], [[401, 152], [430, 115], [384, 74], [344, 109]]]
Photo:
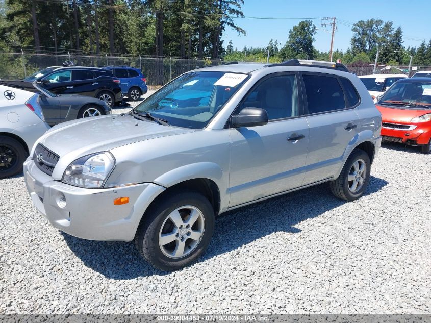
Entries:
[[331, 76], [304, 74], [308, 113], [345, 109], [344, 93], [338, 80]]

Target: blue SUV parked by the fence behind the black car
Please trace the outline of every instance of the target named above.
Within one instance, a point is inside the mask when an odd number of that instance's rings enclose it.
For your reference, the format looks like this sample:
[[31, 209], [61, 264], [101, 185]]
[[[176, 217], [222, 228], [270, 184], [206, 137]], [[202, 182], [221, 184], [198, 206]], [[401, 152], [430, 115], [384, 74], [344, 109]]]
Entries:
[[129, 100], [139, 100], [142, 94], [148, 91], [146, 78], [139, 68], [130, 66], [103, 66], [112, 71], [115, 77], [120, 79], [121, 92], [127, 95]]

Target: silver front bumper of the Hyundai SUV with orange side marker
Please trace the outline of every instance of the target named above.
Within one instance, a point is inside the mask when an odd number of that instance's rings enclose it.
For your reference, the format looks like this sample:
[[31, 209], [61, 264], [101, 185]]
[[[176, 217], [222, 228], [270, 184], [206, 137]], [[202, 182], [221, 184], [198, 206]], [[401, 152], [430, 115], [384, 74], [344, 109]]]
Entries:
[[[24, 179], [34, 205], [57, 229], [88, 240], [132, 241], [149, 204], [164, 187], [143, 183], [119, 188], [88, 189], [54, 181], [29, 157]], [[59, 203], [64, 195], [66, 206]], [[118, 197], [130, 202], [114, 205]]]

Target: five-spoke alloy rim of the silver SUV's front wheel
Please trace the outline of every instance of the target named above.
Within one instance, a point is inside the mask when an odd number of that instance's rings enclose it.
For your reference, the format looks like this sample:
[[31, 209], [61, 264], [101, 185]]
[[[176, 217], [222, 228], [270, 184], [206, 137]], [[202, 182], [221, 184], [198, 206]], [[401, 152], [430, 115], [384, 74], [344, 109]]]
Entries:
[[160, 229], [160, 250], [169, 258], [185, 257], [196, 249], [204, 230], [205, 218], [198, 208], [186, 205], [175, 209]]

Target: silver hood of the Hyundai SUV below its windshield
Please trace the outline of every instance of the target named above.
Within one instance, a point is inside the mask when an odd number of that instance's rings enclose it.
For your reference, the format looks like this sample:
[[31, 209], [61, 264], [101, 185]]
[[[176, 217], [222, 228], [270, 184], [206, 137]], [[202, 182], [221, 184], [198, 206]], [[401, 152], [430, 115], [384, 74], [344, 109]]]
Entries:
[[193, 131], [138, 120], [131, 115], [107, 115], [61, 123], [47, 131], [39, 142], [60, 157], [73, 152], [75, 158], [138, 141]]

